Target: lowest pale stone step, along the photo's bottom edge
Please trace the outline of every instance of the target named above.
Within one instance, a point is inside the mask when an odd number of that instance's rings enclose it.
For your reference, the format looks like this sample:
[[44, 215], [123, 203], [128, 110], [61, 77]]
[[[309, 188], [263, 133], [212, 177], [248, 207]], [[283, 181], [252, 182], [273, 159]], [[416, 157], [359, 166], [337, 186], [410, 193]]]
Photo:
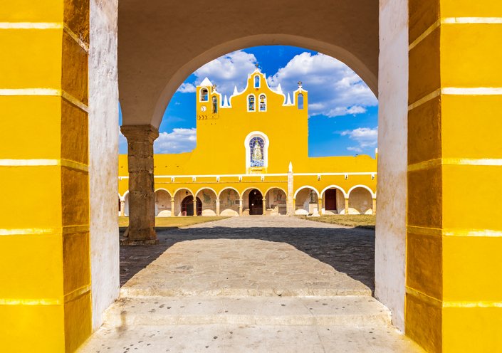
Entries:
[[177, 325], [101, 327], [79, 353], [423, 353], [392, 327]]

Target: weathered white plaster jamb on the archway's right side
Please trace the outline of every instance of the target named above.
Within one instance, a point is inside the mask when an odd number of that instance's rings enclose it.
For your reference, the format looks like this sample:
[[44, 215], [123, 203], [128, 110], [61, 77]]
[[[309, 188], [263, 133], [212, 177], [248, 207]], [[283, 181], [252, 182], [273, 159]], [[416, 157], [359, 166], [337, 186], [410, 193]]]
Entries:
[[375, 296], [404, 330], [406, 248], [408, 1], [380, 1], [378, 212]]

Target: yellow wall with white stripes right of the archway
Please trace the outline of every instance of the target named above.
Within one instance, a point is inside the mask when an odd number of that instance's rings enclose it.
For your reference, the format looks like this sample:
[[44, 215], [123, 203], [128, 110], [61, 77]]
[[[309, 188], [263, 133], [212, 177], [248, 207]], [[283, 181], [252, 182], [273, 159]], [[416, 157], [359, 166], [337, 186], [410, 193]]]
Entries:
[[428, 352], [501, 352], [502, 2], [409, 14], [406, 333]]

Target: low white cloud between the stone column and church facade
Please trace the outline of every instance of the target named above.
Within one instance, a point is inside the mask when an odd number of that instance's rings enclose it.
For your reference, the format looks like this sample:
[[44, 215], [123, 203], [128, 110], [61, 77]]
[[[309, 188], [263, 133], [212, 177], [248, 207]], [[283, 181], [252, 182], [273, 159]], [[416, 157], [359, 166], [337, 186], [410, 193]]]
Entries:
[[160, 132], [153, 148], [155, 153], [190, 152], [195, 148], [196, 129], [174, 128], [172, 132]]

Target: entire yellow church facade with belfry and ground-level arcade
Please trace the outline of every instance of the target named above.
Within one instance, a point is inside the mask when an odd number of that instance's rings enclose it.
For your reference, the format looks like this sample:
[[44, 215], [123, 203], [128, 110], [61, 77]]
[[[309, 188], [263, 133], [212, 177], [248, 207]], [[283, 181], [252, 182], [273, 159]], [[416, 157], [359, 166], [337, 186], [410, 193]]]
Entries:
[[[374, 214], [377, 160], [308, 157], [308, 92], [268, 86], [256, 69], [230, 98], [197, 87], [197, 147], [155, 154], [156, 216]], [[120, 214], [129, 214], [127, 155]], [[197, 211], [194, 211], [197, 210]]]

